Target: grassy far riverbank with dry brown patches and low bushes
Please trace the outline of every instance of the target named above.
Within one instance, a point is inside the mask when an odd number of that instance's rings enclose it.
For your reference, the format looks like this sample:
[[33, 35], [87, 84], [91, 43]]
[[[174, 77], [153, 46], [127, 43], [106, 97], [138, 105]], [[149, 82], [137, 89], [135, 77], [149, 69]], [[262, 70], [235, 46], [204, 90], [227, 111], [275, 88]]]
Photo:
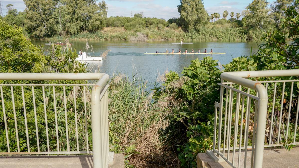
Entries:
[[259, 30], [246, 31], [243, 28], [231, 24], [215, 24], [198, 27], [197, 31], [186, 33], [181, 28], [172, 29], [168, 27], [148, 27], [125, 30], [123, 27], [103, 28], [94, 33], [82, 32], [74, 36], [54, 36], [47, 40], [56, 41], [65, 38], [76, 40], [129, 40], [129, 41], [151, 41], [151, 40], [258, 40], [261, 38]]

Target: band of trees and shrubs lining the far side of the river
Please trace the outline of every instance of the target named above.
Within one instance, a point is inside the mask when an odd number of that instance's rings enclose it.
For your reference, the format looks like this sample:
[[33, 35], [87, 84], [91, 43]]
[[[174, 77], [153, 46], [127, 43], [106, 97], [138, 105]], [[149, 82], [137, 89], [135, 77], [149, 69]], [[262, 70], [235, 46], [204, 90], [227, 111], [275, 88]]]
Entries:
[[[62, 40], [259, 40], [263, 32], [275, 30], [284, 19], [284, 9], [294, 0], [254, 0], [242, 13], [223, 11], [210, 16], [201, 0], [181, 0], [179, 18], [107, 17], [105, 1], [25, 0], [26, 10], [7, 5], [3, 20], [24, 28], [31, 39]], [[194, 10], [193, 10], [194, 9]], [[240, 17], [242, 16], [242, 19]], [[230, 18], [229, 18], [230, 17]], [[229, 19], [228, 19], [229, 18]], [[142, 38], [138, 38], [143, 36]], [[137, 38], [136, 38], [137, 37]]]

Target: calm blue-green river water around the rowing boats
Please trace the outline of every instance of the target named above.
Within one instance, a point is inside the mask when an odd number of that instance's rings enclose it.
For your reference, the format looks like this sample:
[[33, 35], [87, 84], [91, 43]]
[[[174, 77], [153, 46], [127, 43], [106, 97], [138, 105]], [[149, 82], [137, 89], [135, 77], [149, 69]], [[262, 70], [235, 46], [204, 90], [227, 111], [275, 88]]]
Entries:
[[[72, 40], [72, 50], [80, 51], [86, 46], [87, 40]], [[182, 72], [184, 67], [190, 65], [193, 59], [202, 59], [206, 56], [212, 56], [213, 59], [218, 60], [220, 64], [227, 64], [233, 58], [250, 55], [257, 51], [256, 42], [218, 42], [218, 41], [192, 41], [193, 44], [172, 44], [177, 41], [148, 41], [148, 42], [131, 42], [131, 41], [94, 41], [89, 40], [89, 51], [91, 56], [100, 56], [106, 50], [111, 50], [107, 58], [102, 63], [89, 62], [88, 68], [94, 72], [100, 69], [100, 72], [112, 76], [116, 73], [123, 73], [129, 77], [138, 74], [139, 78], [147, 80], [149, 83], [155, 83], [157, 76], [163, 74], [165, 70]], [[185, 41], [191, 42], [191, 41]], [[35, 41], [35, 45], [45, 45], [48, 41]], [[48, 47], [47, 45], [45, 48]], [[91, 51], [91, 48], [93, 49]], [[185, 51], [190, 52], [194, 49], [204, 51], [224, 52], [226, 54], [199, 54], [199, 55], [147, 55], [143, 53], [155, 53], [155, 51], [165, 52], [166, 49], [171, 51]], [[136, 76], [136, 75], [135, 75]], [[137, 77], [137, 76], [136, 76]]]

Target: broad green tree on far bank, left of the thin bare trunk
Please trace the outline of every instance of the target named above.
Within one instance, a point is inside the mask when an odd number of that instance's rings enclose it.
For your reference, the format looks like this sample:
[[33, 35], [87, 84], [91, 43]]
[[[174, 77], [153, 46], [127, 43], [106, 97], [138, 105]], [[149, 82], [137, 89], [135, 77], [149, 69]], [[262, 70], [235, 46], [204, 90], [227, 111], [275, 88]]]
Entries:
[[24, 0], [24, 2], [27, 7], [25, 29], [32, 37], [46, 38], [57, 34], [57, 20], [53, 15], [57, 1]]

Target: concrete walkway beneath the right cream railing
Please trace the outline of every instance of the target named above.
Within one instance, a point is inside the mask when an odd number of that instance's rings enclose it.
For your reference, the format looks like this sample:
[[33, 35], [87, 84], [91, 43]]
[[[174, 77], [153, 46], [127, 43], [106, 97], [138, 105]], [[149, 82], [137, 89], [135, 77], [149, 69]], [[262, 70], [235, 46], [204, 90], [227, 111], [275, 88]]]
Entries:
[[[248, 150], [248, 156], [246, 161], [246, 167], [250, 167], [251, 164], [251, 150]], [[227, 155], [226, 155], [227, 156]], [[240, 167], [244, 167], [245, 152], [241, 152]], [[239, 152], [235, 154], [234, 165], [238, 165]], [[230, 161], [233, 158], [232, 152], [230, 153]], [[226, 161], [219, 163], [213, 162], [213, 160], [206, 153], [199, 153], [197, 155], [197, 167], [212, 167], [212, 168], [226, 168], [231, 167]], [[295, 147], [290, 151], [282, 148], [265, 148], [263, 156], [263, 168], [299, 168], [299, 147]]]

